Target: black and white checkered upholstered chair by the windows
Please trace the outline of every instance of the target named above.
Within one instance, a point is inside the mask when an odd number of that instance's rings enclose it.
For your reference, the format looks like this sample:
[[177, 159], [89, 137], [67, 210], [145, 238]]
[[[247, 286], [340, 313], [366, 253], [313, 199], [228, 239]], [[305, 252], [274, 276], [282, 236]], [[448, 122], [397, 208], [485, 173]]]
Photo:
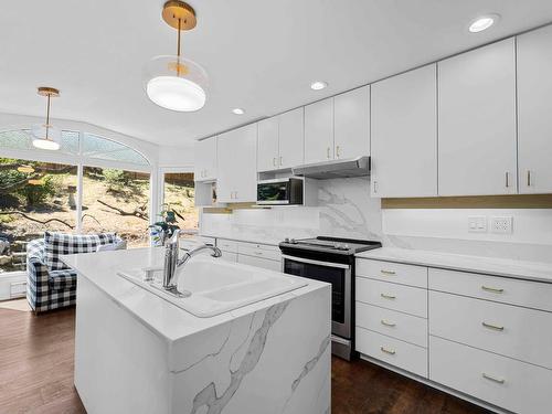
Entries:
[[98, 246], [118, 244], [115, 233], [63, 234], [45, 232], [26, 245], [26, 299], [35, 312], [63, 308], [76, 302], [76, 273], [60, 255], [92, 253]]

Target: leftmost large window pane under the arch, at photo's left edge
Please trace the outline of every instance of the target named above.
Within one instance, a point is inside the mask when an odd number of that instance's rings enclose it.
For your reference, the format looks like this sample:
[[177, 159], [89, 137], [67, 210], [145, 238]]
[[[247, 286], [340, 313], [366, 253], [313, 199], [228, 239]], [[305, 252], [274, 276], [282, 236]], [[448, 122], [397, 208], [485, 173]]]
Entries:
[[0, 274], [24, 270], [26, 243], [74, 232], [77, 167], [0, 158]]

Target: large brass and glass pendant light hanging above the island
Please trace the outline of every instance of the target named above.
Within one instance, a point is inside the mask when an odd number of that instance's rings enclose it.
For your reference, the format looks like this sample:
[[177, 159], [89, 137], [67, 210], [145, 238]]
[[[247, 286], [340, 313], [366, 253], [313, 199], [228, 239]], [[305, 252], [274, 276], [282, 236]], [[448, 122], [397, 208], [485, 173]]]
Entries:
[[151, 102], [166, 109], [199, 110], [205, 105], [208, 75], [203, 67], [180, 54], [180, 32], [195, 28], [195, 11], [183, 1], [169, 0], [161, 17], [177, 29], [177, 55], [157, 56], [147, 64], [146, 93]]

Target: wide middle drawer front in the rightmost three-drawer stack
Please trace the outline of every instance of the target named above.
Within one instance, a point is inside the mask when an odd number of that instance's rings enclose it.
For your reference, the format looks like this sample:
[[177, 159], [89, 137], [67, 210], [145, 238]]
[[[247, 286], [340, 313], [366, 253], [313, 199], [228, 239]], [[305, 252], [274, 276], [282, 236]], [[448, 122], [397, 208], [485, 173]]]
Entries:
[[429, 333], [549, 369], [551, 327], [541, 310], [429, 293]]

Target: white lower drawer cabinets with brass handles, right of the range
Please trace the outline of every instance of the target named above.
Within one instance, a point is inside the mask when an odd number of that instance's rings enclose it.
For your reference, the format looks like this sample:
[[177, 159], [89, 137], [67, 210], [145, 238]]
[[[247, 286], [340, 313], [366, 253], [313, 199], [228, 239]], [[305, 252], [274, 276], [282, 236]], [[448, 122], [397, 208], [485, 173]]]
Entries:
[[501, 413], [552, 412], [552, 284], [365, 258], [357, 274], [362, 355]]

